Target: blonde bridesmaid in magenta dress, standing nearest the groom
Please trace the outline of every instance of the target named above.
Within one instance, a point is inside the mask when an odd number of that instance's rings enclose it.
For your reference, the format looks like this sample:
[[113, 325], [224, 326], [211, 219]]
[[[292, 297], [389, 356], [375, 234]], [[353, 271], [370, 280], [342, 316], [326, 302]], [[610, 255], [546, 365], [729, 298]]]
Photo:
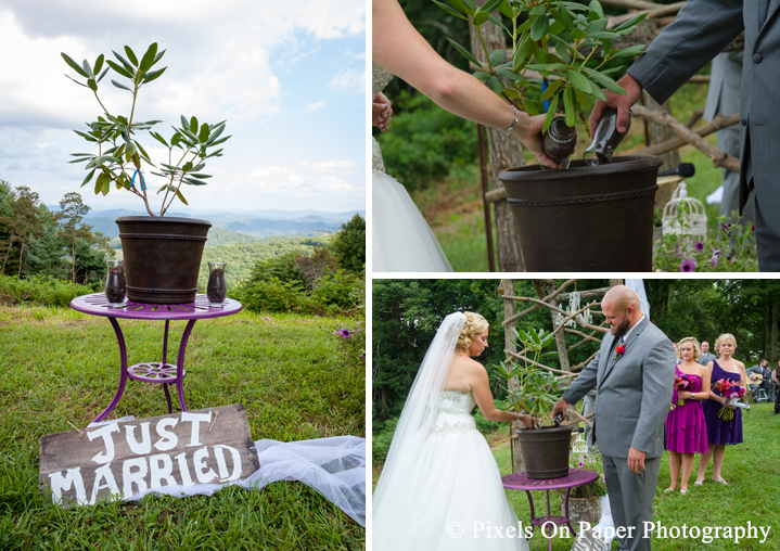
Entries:
[[[709, 371], [705, 366], [698, 363], [701, 348], [699, 341], [687, 336], [677, 346], [678, 362], [675, 375], [689, 375], [691, 384], [686, 390], [675, 388], [672, 403], [675, 408], [666, 415], [666, 449], [669, 450], [669, 474], [672, 485], [664, 490], [668, 494], [677, 489], [677, 482], [682, 465], [682, 479], [680, 494], [688, 494], [688, 479], [693, 471], [693, 454], [706, 453], [707, 426], [702, 412], [702, 401], [709, 398]], [[702, 390], [703, 388], [703, 390]], [[678, 406], [679, 400], [685, 400]]]

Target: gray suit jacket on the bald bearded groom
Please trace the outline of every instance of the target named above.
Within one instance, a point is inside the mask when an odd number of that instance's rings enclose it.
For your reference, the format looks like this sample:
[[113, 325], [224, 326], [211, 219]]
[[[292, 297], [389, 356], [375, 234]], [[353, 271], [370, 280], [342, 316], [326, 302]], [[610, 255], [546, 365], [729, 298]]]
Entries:
[[675, 347], [647, 316], [628, 335], [619, 359], [613, 349], [617, 338], [610, 333], [601, 341], [596, 358], [563, 397], [574, 405], [597, 386], [594, 430], [602, 454], [627, 458], [634, 447], [658, 457], [675, 384]]

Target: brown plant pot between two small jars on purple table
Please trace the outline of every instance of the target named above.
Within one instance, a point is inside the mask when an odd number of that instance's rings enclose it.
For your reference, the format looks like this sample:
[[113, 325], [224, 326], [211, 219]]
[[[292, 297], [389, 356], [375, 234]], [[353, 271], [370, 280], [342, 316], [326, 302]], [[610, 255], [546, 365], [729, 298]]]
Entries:
[[195, 300], [203, 247], [212, 222], [196, 218], [116, 219], [125, 256], [127, 298], [145, 304]]

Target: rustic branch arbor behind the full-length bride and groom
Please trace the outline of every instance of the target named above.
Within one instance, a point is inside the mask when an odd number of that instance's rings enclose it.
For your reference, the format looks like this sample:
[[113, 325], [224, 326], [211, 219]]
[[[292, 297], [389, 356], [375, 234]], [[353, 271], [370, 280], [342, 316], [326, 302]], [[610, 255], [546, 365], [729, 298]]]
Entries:
[[[557, 380], [562, 380], [567, 383], [573, 381], [577, 376], [578, 372], [596, 357], [597, 353], [593, 353], [590, 357], [588, 357], [588, 359], [580, 363], [577, 363], [576, 366], [571, 366], [571, 362], [568, 360], [568, 354], [587, 342], [601, 343], [601, 337], [603, 336], [603, 334], [610, 331], [605, 326], [605, 322], [602, 322], [599, 325], [587, 323], [580, 318], [580, 315], [586, 310], [590, 310], [591, 313], [601, 313], [601, 298], [611, 287], [622, 284], [623, 280], [610, 280], [609, 287], [581, 292], [579, 294], [581, 299], [592, 300], [585, 306], [581, 306], [575, 311], [563, 310], [559, 308], [557, 304], [562, 300], [568, 300], [568, 298], [571, 297], [571, 292], [566, 292], [566, 290], [572, 287], [572, 285], [574, 285], [579, 280], [568, 280], [558, 287], [555, 286], [554, 280], [530, 280], [534, 285], [534, 289], [536, 290], [538, 298], [529, 296], [515, 296], [514, 281], [515, 280], [501, 280], [501, 284], [498, 287], [499, 294], [503, 296], [502, 325], [504, 331], [506, 361], [527, 361], [533, 366], [554, 373], [555, 375], [558, 375], [555, 377]], [[530, 303], [530, 306], [515, 313], [515, 305], [517, 303]], [[558, 356], [561, 362], [561, 369], [551, 368], [549, 366], [545, 366], [544, 363], [530, 360], [527, 357], [528, 350], [517, 350], [512, 338], [512, 329], [514, 329], [517, 320], [527, 313], [538, 310], [539, 308], [547, 308], [550, 312], [550, 316], [552, 317], [552, 325], [555, 334], [555, 346], [558, 347]], [[577, 325], [579, 325], [579, 328], [581, 328], [581, 331], [578, 329], [572, 329], [566, 326], [566, 323], [568, 321], [574, 321]], [[572, 346], [567, 346], [565, 341], [565, 333], [577, 335], [578, 337], [580, 337], [580, 341], [578, 341]], [[519, 383], [516, 379], [512, 379], [510, 381], [510, 384], [513, 388], [516, 388], [516, 385]], [[570, 421], [564, 424], [586, 423], [588, 426], [592, 427], [590, 421], [588, 421], [591, 415], [592, 414], [588, 415], [587, 418], [584, 418], [574, 408], [570, 408]], [[513, 425], [513, 423], [510, 423], [511, 435], [514, 435], [514, 430], [515, 426]], [[517, 443], [516, 438], [510, 439], [510, 449], [512, 452], [513, 472], [519, 473], [521, 471], [524, 471], [525, 469], [523, 464], [523, 456], [521, 453], [520, 444]]]

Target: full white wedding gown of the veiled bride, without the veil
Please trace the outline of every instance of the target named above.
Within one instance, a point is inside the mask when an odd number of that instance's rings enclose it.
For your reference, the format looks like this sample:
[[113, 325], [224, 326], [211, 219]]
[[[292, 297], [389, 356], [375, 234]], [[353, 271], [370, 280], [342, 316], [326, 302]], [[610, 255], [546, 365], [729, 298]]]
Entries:
[[374, 514], [373, 549], [527, 551], [496, 460], [470, 414], [474, 395], [443, 392], [435, 403], [422, 452]]

